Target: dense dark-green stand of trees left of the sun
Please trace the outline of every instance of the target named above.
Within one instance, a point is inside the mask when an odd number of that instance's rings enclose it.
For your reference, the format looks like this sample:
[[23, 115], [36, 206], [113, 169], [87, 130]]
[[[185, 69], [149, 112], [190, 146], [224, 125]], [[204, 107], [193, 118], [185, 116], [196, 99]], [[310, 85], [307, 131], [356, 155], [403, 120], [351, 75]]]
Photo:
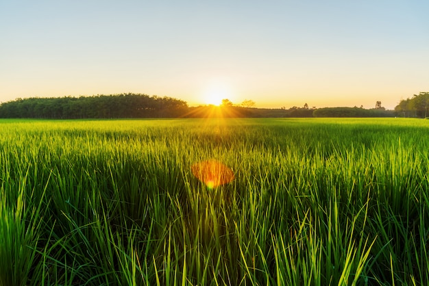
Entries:
[[147, 94], [16, 99], [0, 105], [0, 118], [159, 118], [179, 117], [186, 101]]

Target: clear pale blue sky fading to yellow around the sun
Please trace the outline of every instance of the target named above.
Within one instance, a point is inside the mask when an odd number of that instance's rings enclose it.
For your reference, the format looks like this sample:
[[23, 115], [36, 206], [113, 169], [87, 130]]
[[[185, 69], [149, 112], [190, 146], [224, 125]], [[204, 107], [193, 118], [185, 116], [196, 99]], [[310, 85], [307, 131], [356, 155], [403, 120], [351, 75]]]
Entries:
[[0, 102], [134, 92], [391, 109], [429, 91], [428, 11], [427, 0], [0, 0]]

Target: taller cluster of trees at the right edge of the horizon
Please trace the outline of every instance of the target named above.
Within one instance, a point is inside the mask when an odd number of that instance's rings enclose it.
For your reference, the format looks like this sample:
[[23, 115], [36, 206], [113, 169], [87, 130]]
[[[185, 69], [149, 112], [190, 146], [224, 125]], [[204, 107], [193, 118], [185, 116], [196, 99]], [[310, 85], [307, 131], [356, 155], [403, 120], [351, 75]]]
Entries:
[[429, 116], [429, 92], [419, 92], [413, 97], [402, 99], [395, 107], [395, 112], [402, 117], [427, 118]]

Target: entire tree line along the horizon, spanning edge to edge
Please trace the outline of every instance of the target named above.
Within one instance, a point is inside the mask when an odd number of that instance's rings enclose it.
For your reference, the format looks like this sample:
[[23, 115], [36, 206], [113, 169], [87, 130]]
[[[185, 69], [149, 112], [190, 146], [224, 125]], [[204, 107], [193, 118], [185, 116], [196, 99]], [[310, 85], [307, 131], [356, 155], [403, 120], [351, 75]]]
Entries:
[[429, 116], [429, 92], [420, 92], [411, 99], [400, 101], [395, 110], [385, 110], [380, 101], [376, 108], [286, 107], [254, 108], [255, 102], [245, 100], [234, 105], [224, 99], [221, 107], [201, 105], [188, 107], [186, 101], [169, 96], [147, 94], [112, 94], [97, 96], [66, 96], [16, 99], [0, 104], [0, 118], [201, 118], [201, 117], [421, 117]]

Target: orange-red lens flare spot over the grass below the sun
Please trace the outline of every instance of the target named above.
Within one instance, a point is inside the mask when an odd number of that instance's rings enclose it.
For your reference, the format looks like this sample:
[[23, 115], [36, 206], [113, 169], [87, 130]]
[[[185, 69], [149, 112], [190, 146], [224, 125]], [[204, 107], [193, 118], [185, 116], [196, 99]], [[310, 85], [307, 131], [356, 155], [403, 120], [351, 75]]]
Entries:
[[225, 185], [234, 180], [234, 172], [217, 160], [206, 160], [193, 164], [191, 171], [209, 189]]

